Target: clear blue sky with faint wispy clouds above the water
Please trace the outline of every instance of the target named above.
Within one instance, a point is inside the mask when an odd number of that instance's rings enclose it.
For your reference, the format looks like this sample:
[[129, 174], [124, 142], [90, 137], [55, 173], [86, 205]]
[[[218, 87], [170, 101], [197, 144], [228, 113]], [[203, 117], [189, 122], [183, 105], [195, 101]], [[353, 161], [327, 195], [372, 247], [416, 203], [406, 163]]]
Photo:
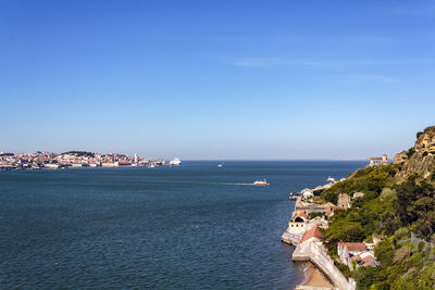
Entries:
[[0, 0], [0, 151], [364, 159], [435, 125], [435, 1]]

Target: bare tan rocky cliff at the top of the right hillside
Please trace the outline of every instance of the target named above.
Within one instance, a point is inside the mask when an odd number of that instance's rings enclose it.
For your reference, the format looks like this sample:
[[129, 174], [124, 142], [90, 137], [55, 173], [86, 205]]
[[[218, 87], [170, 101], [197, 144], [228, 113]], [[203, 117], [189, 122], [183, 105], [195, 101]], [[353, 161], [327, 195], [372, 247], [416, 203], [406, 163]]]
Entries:
[[395, 177], [398, 184], [415, 174], [419, 180], [435, 184], [435, 126], [418, 133], [415, 146], [396, 155], [395, 163], [401, 162], [403, 165]]

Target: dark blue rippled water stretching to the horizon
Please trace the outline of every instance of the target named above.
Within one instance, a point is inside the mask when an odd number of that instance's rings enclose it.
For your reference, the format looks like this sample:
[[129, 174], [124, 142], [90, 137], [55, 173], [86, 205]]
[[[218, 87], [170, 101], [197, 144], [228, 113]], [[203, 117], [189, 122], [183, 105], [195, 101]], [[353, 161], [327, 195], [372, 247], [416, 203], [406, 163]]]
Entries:
[[288, 193], [365, 163], [217, 164], [0, 172], [0, 288], [293, 289]]

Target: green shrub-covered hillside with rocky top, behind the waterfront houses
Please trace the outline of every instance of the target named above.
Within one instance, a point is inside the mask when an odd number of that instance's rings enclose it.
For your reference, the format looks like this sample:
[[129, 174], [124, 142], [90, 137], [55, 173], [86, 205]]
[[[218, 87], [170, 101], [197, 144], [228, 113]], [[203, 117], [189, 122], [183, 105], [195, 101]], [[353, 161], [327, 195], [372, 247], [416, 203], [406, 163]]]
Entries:
[[381, 266], [339, 265], [358, 289], [435, 289], [435, 126], [417, 137], [394, 164], [359, 169], [322, 192], [333, 203], [339, 193], [364, 193], [336, 210], [325, 231], [333, 257], [338, 241], [376, 241]]

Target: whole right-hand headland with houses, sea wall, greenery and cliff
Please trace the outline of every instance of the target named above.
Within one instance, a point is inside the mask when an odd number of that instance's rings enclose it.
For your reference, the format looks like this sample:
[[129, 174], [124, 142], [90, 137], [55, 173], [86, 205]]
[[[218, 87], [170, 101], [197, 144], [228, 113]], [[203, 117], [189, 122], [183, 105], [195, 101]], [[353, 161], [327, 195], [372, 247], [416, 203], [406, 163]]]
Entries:
[[[334, 289], [435, 288], [435, 126], [393, 162], [371, 157], [347, 178], [291, 193], [282, 241]], [[309, 279], [296, 289], [316, 288]], [[324, 287], [324, 286], [319, 286]]]

